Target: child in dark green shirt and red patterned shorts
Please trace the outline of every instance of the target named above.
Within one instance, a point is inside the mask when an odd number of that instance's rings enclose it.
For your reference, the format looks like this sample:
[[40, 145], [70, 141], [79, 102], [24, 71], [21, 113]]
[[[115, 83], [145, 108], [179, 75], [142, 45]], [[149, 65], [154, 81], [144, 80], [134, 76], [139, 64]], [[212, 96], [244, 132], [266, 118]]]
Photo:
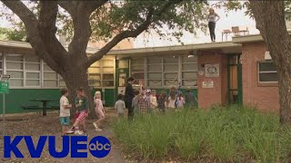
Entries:
[[[85, 96], [85, 91], [83, 88], [76, 89], [76, 97], [75, 97], [75, 107], [77, 110], [75, 111], [76, 120], [70, 131], [74, 131], [75, 134], [82, 135], [86, 133], [85, 128], [85, 118], [88, 116], [88, 98]], [[80, 129], [79, 129], [80, 127]]]

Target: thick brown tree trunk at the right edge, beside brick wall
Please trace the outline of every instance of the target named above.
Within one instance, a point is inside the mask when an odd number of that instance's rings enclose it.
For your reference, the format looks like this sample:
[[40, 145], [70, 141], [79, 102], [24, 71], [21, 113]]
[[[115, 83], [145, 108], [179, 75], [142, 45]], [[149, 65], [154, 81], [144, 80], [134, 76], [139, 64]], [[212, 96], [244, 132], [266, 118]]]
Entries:
[[276, 62], [280, 122], [291, 124], [291, 39], [286, 30], [284, 1], [249, 1], [249, 6], [256, 28], [262, 34], [273, 62]]

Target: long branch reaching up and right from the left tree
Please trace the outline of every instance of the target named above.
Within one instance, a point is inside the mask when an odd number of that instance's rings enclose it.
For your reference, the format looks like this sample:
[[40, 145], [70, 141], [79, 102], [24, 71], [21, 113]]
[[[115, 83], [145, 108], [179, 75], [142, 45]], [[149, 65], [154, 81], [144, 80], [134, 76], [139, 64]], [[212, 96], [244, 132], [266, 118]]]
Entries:
[[153, 20], [154, 15], [155, 17], [158, 17], [163, 14], [171, 5], [179, 4], [182, 1], [183, 0], [170, 0], [156, 14], [154, 8], [151, 7], [148, 11], [148, 14], [146, 15], [146, 21], [143, 24], [140, 24], [135, 30], [126, 30], [120, 34], [115, 35], [115, 37], [109, 43], [106, 43], [105, 46], [102, 47], [97, 53], [94, 53], [88, 58], [87, 62], [85, 62], [85, 66], [89, 67], [94, 62], [102, 59], [106, 53], [108, 53], [117, 43], [121, 42], [125, 38], [136, 37], [143, 33], [148, 28], [148, 26], [153, 23], [153, 21], [155, 21]]

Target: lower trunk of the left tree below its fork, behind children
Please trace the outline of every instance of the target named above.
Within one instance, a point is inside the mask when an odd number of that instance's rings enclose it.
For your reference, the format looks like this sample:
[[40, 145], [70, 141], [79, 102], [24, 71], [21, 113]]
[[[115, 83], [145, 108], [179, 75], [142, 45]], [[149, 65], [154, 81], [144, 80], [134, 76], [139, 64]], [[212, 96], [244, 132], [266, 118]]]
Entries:
[[94, 101], [91, 95], [91, 91], [88, 84], [87, 79], [87, 69], [81, 68], [79, 66], [70, 65], [65, 69], [65, 75], [63, 79], [65, 81], [66, 87], [69, 91], [69, 101], [73, 104], [74, 108], [71, 111], [71, 114], [75, 114], [75, 97], [76, 97], [76, 89], [82, 87], [85, 90], [85, 95], [88, 97], [89, 100], [89, 117], [95, 118], [95, 108], [94, 108]]

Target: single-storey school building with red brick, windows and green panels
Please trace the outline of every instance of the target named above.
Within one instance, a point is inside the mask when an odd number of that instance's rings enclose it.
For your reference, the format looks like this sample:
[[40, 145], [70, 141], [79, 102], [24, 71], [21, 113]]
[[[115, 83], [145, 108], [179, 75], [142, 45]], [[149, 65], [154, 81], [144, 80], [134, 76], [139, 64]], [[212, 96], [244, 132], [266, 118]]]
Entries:
[[[87, 49], [88, 54], [96, 51]], [[0, 41], [0, 73], [11, 75], [7, 113], [25, 112], [22, 106], [32, 99], [58, 99], [65, 87], [29, 43]], [[89, 85], [103, 92], [106, 106], [114, 105], [129, 76], [156, 91], [190, 87], [201, 109], [231, 103], [279, 109], [276, 66], [259, 34], [231, 42], [112, 50], [88, 69]]]

